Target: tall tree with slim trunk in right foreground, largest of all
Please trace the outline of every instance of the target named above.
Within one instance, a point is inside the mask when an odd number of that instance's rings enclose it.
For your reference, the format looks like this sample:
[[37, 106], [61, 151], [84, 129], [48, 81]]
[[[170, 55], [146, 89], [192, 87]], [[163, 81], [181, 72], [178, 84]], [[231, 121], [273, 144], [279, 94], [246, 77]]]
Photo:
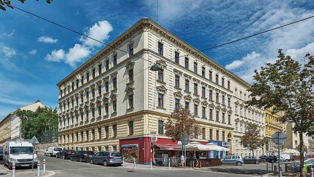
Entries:
[[[282, 49], [278, 51], [278, 59], [274, 63], [265, 63], [259, 71], [255, 70], [256, 81], [248, 89], [251, 100], [247, 106], [255, 105], [264, 109], [273, 106], [272, 114], [284, 111], [278, 121], [295, 123], [294, 132], [300, 134], [300, 154], [303, 154], [303, 135], [313, 125], [312, 109], [314, 104], [314, 58], [307, 53], [299, 63], [286, 56]], [[304, 157], [300, 156], [300, 169], [303, 169]], [[304, 177], [303, 170], [300, 176]]]

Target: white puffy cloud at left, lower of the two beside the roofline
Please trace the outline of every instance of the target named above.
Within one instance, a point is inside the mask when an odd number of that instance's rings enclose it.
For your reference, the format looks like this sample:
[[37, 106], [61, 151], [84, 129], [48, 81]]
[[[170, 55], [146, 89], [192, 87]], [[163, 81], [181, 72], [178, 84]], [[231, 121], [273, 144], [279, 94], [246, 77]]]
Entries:
[[91, 53], [89, 47], [75, 44], [73, 48], [69, 48], [68, 52], [63, 49], [53, 50], [51, 54], [47, 54], [47, 61], [68, 63], [72, 67], [76, 67], [76, 63], [82, 62]]

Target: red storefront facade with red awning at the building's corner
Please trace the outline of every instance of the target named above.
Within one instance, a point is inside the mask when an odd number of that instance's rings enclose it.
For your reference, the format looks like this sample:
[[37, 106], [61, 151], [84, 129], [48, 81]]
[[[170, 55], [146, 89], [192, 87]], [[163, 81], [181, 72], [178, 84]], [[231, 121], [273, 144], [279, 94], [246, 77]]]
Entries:
[[[192, 142], [192, 141], [190, 141]], [[207, 144], [207, 141], [197, 141], [202, 144]], [[140, 164], [149, 164], [150, 159], [155, 159], [156, 164], [162, 164], [162, 158], [170, 158], [181, 156], [181, 151], [174, 150], [175, 147], [181, 147], [178, 142], [172, 142], [171, 139], [158, 138], [155, 144], [151, 143], [150, 137], [139, 137], [131, 139], [119, 140], [120, 152], [125, 157], [126, 162], [133, 162], [134, 159]], [[154, 154], [153, 154], [154, 153]], [[168, 154], [168, 155], [166, 155]], [[208, 152], [200, 153], [205, 159], [208, 157]], [[161, 155], [164, 155], [163, 157]], [[187, 158], [193, 157], [194, 152], [187, 151]]]

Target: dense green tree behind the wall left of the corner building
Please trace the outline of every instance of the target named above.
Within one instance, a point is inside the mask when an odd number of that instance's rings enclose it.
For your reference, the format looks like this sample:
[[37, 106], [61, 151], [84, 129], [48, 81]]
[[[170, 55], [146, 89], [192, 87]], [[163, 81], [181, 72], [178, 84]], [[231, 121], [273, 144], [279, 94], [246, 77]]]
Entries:
[[58, 129], [57, 109], [47, 107], [38, 107], [36, 111], [18, 110], [16, 113], [21, 119], [21, 128], [24, 132], [25, 139], [31, 139], [45, 130]]

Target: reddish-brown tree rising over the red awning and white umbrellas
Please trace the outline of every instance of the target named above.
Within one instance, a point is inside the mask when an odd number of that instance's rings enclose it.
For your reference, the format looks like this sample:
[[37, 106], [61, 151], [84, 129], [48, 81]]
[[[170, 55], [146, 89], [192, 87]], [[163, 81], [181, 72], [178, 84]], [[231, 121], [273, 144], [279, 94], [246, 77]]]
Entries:
[[172, 142], [181, 141], [184, 131], [187, 132], [190, 139], [193, 139], [195, 134], [202, 134], [201, 125], [194, 119], [194, 115], [184, 109], [181, 104], [171, 113], [171, 117], [167, 119], [164, 126], [165, 135], [170, 137]]

